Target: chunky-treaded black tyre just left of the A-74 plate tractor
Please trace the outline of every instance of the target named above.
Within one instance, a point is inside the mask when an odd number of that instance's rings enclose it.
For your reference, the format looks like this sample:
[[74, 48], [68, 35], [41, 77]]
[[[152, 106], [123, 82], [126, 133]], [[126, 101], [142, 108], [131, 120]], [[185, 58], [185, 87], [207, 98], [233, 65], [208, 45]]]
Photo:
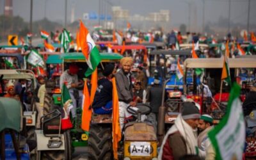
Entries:
[[88, 158], [93, 160], [113, 159], [111, 127], [102, 127], [97, 124], [90, 126]]

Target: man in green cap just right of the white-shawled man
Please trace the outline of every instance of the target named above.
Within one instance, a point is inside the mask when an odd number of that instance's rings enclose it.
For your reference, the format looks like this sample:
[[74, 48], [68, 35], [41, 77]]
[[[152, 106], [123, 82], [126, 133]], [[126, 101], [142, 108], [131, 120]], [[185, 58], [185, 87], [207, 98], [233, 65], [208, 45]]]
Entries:
[[209, 140], [207, 133], [212, 129], [212, 122], [213, 119], [210, 115], [201, 115], [198, 122], [200, 134], [198, 135], [197, 142], [200, 156], [202, 157], [205, 157], [206, 150], [209, 145], [211, 145], [211, 141]]

